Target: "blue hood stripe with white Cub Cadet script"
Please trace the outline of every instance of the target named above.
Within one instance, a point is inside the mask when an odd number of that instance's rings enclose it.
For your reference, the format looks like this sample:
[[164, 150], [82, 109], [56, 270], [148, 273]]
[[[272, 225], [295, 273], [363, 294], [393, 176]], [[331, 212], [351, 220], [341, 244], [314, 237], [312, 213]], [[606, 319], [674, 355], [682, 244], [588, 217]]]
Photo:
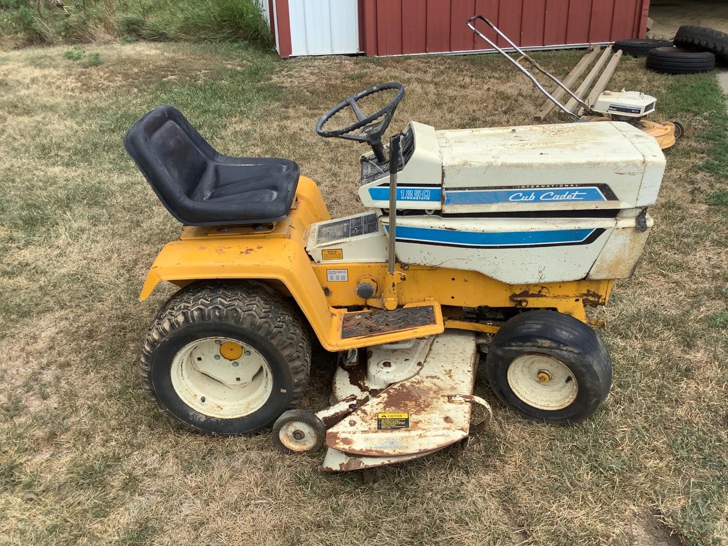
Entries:
[[446, 205], [491, 205], [493, 203], [563, 203], [606, 201], [596, 186], [537, 189], [461, 189], [445, 191]]

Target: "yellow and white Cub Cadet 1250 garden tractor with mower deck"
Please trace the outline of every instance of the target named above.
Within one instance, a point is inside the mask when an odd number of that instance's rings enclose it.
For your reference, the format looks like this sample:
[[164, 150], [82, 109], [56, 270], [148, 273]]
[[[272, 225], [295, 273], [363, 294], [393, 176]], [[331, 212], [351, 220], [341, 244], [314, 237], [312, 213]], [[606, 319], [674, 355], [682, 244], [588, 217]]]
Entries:
[[[665, 158], [623, 122], [435, 130], [381, 141], [398, 83], [357, 93], [318, 122], [368, 143], [368, 212], [331, 219], [288, 159], [215, 151], [171, 106], [124, 143], [185, 226], [144, 283], [181, 287], [143, 345], [146, 388], [175, 419], [218, 435], [272, 427], [283, 451], [328, 447], [325, 470], [414, 459], [461, 440], [479, 352], [497, 397], [572, 423], [606, 398], [611, 364], [585, 306], [630, 277]], [[369, 103], [388, 102], [371, 115]], [[329, 129], [344, 111], [357, 121]], [[293, 409], [311, 336], [339, 355], [331, 407]], [[480, 349], [480, 350], [479, 350]]]

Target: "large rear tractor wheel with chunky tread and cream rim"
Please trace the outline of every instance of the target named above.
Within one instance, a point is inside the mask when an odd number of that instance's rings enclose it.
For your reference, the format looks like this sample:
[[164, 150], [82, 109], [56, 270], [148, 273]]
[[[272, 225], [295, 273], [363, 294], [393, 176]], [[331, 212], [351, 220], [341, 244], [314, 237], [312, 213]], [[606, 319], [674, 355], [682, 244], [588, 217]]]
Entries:
[[301, 399], [311, 347], [298, 313], [266, 285], [196, 282], [160, 309], [144, 341], [146, 390], [199, 432], [250, 435]]

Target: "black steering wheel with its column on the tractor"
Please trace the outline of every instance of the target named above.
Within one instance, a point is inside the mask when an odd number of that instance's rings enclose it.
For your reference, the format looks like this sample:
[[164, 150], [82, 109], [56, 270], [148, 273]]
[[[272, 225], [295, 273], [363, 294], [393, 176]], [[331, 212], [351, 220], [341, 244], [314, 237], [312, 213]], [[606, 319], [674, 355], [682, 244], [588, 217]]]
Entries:
[[[362, 100], [369, 95], [374, 95], [380, 91], [397, 90], [395, 98], [389, 101], [386, 105], [376, 111], [371, 116], [365, 116], [359, 105], [358, 100]], [[339, 104], [331, 108], [328, 112], [321, 116], [316, 124], [316, 132], [327, 138], [339, 137], [347, 138], [350, 141], [366, 142], [371, 146], [374, 151], [376, 160], [380, 163], [387, 161], [387, 156], [384, 154], [384, 146], [381, 145], [381, 135], [384, 135], [384, 131], [389, 127], [389, 122], [392, 121], [392, 116], [395, 114], [397, 104], [400, 103], [405, 96], [405, 87], [403, 84], [397, 82], [390, 82], [388, 84], [379, 84], [369, 89], [358, 92], [356, 95], [352, 95], [349, 98], [342, 100]], [[341, 129], [324, 130], [324, 125], [340, 111], [350, 106], [357, 116], [357, 122], [342, 127]], [[381, 118], [381, 119], [380, 119]], [[356, 131], [356, 132], [355, 132]]]

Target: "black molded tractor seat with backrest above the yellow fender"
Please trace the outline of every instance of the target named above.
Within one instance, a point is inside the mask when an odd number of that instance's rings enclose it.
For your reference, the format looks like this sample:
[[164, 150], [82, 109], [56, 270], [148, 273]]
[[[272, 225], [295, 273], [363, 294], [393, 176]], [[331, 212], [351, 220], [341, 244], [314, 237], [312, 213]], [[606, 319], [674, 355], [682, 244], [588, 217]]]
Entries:
[[295, 162], [218, 154], [172, 106], [142, 116], [124, 146], [162, 204], [188, 226], [277, 221], [296, 196]]

